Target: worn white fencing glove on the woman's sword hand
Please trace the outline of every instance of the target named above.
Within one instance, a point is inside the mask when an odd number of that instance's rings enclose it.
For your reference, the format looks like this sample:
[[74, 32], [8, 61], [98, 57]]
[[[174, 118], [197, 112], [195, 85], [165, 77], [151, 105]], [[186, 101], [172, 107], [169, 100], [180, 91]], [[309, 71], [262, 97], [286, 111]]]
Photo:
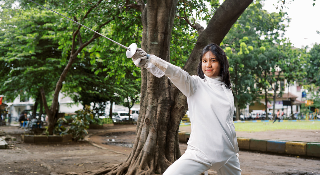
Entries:
[[141, 48], [137, 48], [136, 53], [132, 56], [132, 61], [137, 67], [144, 67], [154, 76], [160, 78], [167, 70], [168, 62], [155, 56], [149, 55]]

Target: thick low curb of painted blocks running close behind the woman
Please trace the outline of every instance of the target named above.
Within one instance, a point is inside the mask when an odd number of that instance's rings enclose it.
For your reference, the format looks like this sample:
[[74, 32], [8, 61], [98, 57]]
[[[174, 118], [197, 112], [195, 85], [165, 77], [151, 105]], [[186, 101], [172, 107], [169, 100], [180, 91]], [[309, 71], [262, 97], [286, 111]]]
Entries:
[[[188, 142], [190, 133], [179, 131], [179, 141]], [[237, 137], [239, 149], [297, 156], [320, 157], [320, 142], [283, 141]]]

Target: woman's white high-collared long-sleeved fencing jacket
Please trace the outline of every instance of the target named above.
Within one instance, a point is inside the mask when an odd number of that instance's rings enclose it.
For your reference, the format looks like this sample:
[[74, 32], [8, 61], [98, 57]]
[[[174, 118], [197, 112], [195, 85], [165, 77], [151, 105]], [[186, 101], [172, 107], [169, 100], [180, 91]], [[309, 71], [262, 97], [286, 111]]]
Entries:
[[239, 152], [233, 124], [234, 100], [231, 90], [221, 82], [220, 76], [209, 78], [204, 75], [205, 79], [190, 76], [180, 67], [153, 55], [150, 62], [152, 64], [148, 64], [147, 69], [151, 73], [157, 77], [169, 77], [187, 96], [191, 121], [188, 145], [208, 156], [214, 170], [220, 169]]

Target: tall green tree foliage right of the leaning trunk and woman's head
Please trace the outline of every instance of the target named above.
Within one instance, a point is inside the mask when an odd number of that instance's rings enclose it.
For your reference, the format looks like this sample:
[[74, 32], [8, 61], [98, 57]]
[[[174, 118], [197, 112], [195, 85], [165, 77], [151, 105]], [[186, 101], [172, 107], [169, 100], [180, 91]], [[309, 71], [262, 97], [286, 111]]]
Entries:
[[265, 86], [269, 85], [265, 79], [260, 78], [262, 74], [257, 70], [275, 66], [266, 55], [269, 53], [267, 48], [272, 47], [274, 42], [279, 42], [278, 31], [284, 30], [281, 24], [283, 20], [277, 13], [262, 10], [262, 4], [257, 1], [249, 5], [225, 36], [222, 46], [228, 56], [237, 111], [244, 109], [260, 96], [257, 81]]

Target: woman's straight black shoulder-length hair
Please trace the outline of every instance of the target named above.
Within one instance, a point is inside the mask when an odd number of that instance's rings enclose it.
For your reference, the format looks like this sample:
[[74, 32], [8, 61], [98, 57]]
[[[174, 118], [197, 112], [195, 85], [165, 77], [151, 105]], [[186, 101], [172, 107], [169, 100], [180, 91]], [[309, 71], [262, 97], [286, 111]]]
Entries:
[[207, 53], [209, 51], [216, 57], [217, 61], [221, 65], [221, 69], [220, 69], [220, 76], [222, 77], [221, 81], [223, 83], [225, 83], [227, 88], [231, 89], [229, 62], [228, 62], [226, 53], [224, 53], [223, 49], [220, 46], [218, 46], [217, 44], [214, 44], [214, 43], [208, 44], [202, 50], [202, 53], [200, 55], [198, 70], [197, 70], [198, 76], [201, 79], [205, 79], [204, 72], [203, 72], [202, 66], [201, 66], [202, 65], [202, 57], [204, 56], [205, 53]]

